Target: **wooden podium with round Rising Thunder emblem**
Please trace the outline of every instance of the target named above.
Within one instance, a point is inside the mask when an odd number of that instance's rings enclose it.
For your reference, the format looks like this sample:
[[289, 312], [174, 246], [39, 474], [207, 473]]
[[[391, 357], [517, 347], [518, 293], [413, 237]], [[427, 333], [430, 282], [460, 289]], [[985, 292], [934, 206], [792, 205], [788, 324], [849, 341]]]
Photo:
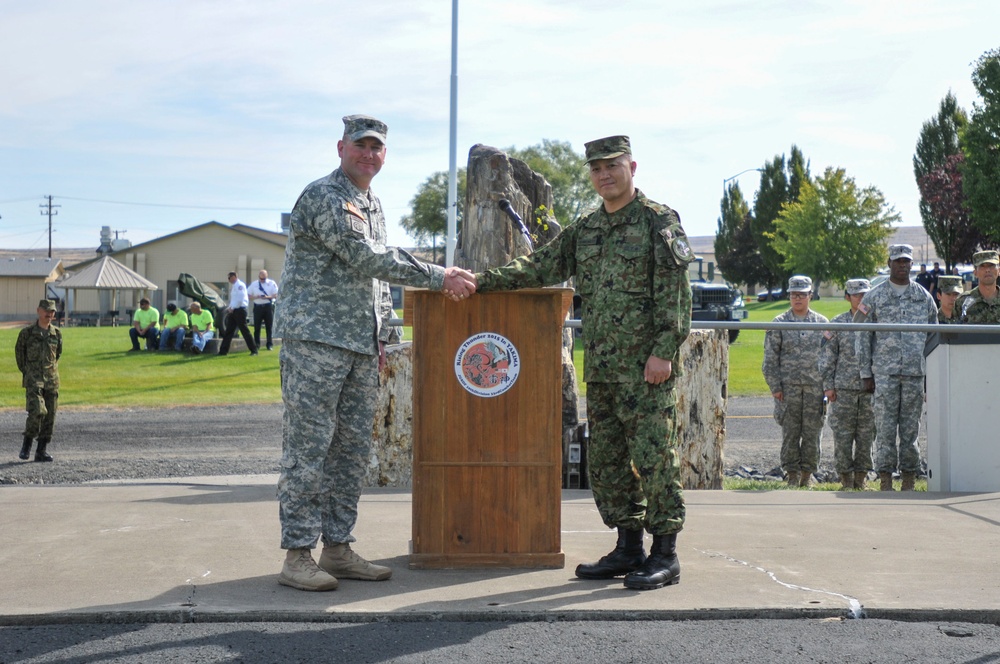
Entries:
[[560, 358], [572, 296], [407, 291], [411, 568], [564, 566]]

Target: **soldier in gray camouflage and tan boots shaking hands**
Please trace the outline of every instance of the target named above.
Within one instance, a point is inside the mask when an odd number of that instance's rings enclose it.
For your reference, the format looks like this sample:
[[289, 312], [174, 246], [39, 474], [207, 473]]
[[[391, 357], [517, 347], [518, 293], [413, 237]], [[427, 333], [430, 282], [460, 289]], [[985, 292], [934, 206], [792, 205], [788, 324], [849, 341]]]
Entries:
[[[308, 185], [292, 210], [282, 275], [278, 479], [278, 582], [333, 590], [337, 578], [381, 581], [392, 570], [351, 550], [368, 465], [378, 374], [385, 344], [399, 332], [389, 285], [440, 290], [453, 300], [475, 292], [472, 273], [422, 263], [385, 246], [382, 204], [369, 188], [385, 162], [387, 127], [365, 115], [344, 118], [340, 167]], [[322, 537], [319, 562], [312, 549]]]

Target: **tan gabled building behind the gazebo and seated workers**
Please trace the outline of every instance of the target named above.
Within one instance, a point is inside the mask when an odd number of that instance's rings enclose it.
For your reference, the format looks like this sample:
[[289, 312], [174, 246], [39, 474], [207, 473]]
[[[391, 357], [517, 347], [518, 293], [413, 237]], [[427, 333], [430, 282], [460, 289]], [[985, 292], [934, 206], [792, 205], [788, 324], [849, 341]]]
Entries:
[[[182, 273], [214, 286], [223, 296], [229, 292], [230, 271], [250, 283], [260, 270], [267, 270], [280, 286], [287, 239], [283, 233], [210, 221], [109, 255], [156, 284], [157, 290], [149, 293], [149, 299], [154, 307], [164, 311], [168, 302], [176, 302], [180, 307], [189, 303], [178, 291], [177, 277]], [[72, 265], [69, 270], [78, 272], [98, 258]], [[108, 291], [79, 291], [71, 303], [72, 311], [104, 314], [111, 306], [110, 296]], [[139, 292], [129, 292], [124, 300], [119, 298], [117, 306], [122, 322], [129, 322], [140, 297]]]

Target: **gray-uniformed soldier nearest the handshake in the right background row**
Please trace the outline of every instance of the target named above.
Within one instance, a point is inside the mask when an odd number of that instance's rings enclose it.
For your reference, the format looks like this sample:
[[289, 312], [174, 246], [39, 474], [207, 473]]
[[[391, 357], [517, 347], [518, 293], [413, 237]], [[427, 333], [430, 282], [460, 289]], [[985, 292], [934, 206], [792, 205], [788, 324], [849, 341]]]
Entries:
[[[775, 323], [827, 323], [826, 316], [809, 308], [812, 279], [796, 275], [788, 280], [791, 308], [775, 316]], [[788, 486], [815, 483], [819, 468], [826, 403], [819, 374], [819, 330], [768, 330], [764, 335], [764, 380], [774, 397], [774, 419], [781, 425], [781, 468]]]

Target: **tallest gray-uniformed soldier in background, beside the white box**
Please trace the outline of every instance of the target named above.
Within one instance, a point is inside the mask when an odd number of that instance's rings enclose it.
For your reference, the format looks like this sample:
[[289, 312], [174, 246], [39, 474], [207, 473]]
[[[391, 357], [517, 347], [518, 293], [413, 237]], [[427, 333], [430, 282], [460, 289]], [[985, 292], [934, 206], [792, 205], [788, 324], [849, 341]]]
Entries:
[[[910, 281], [912, 262], [910, 245], [889, 247], [889, 278], [865, 294], [855, 323], [937, 323], [937, 307], [930, 293]], [[926, 341], [923, 332], [857, 333], [858, 371], [865, 389], [874, 392], [875, 470], [882, 491], [892, 491], [892, 474], [897, 467], [902, 490], [912, 491], [920, 470], [917, 434], [924, 404]]]

